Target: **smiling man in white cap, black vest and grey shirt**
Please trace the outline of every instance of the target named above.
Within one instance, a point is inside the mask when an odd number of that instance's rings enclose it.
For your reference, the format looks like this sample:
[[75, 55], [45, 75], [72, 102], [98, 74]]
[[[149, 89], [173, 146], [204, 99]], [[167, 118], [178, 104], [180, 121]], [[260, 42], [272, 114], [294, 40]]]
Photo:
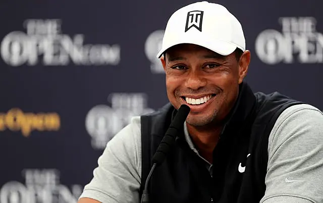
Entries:
[[158, 53], [170, 105], [133, 118], [107, 145], [79, 203], [140, 202], [151, 158], [178, 108], [191, 111], [149, 180], [151, 202], [323, 202], [323, 114], [253, 93], [239, 21], [200, 2], [176, 11]]

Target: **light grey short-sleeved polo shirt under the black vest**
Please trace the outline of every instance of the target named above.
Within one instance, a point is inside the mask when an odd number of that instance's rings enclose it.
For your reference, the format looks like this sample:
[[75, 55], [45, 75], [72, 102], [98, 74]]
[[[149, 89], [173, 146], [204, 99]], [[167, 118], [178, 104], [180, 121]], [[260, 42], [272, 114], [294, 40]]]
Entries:
[[[198, 154], [184, 127], [186, 141]], [[212, 165], [204, 161], [211, 171]], [[140, 202], [140, 179], [140, 117], [134, 117], [107, 143], [80, 198]], [[261, 203], [323, 202], [323, 114], [317, 108], [295, 105], [279, 116], [268, 140], [265, 184]]]

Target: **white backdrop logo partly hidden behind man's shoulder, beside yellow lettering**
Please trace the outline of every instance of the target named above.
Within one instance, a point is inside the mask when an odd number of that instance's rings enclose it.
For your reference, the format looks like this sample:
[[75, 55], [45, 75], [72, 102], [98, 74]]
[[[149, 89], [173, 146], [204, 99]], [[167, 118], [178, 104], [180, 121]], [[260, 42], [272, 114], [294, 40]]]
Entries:
[[106, 143], [131, 122], [133, 116], [153, 112], [147, 108], [144, 93], [112, 93], [108, 100], [111, 107], [97, 105], [86, 116], [86, 130], [95, 149], [104, 149]]

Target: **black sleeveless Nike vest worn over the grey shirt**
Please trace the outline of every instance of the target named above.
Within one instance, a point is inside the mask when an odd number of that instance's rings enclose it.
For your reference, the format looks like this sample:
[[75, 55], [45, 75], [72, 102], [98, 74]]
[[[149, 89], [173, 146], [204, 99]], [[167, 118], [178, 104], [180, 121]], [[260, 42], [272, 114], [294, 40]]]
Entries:
[[[301, 103], [277, 92], [254, 94], [242, 83], [235, 107], [213, 150], [212, 177], [205, 162], [188, 146], [182, 130], [175, 148], [151, 176], [150, 202], [259, 202], [266, 189], [268, 137], [279, 115], [295, 104]], [[151, 158], [175, 114], [174, 107], [168, 104], [141, 116], [140, 196]], [[240, 169], [245, 167], [243, 173], [238, 170], [240, 163]]]

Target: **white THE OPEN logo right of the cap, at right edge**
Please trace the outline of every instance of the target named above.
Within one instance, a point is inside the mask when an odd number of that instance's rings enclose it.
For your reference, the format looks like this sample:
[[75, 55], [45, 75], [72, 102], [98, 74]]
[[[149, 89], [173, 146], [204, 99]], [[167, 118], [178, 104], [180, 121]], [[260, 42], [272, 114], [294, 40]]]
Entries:
[[323, 35], [313, 17], [282, 17], [282, 30], [262, 31], [255, 41], [259, 59], [266, 64], [322, 63]]

